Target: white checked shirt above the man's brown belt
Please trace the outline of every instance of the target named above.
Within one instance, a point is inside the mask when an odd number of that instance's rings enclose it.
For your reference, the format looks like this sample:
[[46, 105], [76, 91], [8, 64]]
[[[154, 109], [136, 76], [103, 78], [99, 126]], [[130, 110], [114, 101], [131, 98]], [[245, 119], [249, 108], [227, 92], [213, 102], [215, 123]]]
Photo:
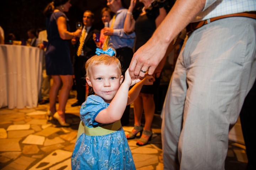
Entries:
[[204, 9], [193, 22], [246, 11], [256, 11], [256, 0], [206, 0]]

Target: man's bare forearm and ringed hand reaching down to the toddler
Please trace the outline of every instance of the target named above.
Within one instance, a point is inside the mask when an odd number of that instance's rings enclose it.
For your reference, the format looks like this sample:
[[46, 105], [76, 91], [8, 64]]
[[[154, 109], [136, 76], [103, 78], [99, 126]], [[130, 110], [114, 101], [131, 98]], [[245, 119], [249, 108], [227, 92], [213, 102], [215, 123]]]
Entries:
[[171, 41], [203, 10], [205, 3], [206, 0], [177, 0], [175, 2], [153, 36], [134, 53], [129, 66], [132, 79], [145, 76], [145, 73], [140, 70], [148, 70], [149, 75], [154, 73]]

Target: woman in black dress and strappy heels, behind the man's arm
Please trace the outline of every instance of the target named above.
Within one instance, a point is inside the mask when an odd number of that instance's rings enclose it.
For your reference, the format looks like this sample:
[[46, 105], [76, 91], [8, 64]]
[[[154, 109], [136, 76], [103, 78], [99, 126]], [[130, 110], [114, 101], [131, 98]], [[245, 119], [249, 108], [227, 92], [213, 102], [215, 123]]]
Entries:
[[[124, 23], [124, 31], [126, 33], [133, 31], [136, 33], [135, 51], [149, 40], [170, 10], [167, 0], [139, 0], [139, 2], [142, 2], [144, 6], [133, 11], [136, 0], [131, 0]], [[137, 141], [138, 146], [147, 144], [152, 136], [151, 124], [155, 113], [154, 93], [160, 83], [160, 74], [164, 67], [166, 56], [155, 69], [153, 76], [156, 80], [154, 84], [144, 85], [139, 97], [134, 101], [134, 129], [127, 135], [127, 139], [135, 138], [137, 133], [140, 132], [141, 137]], [[143, 110], [145, 115], [144, 128], [141, 126]]]

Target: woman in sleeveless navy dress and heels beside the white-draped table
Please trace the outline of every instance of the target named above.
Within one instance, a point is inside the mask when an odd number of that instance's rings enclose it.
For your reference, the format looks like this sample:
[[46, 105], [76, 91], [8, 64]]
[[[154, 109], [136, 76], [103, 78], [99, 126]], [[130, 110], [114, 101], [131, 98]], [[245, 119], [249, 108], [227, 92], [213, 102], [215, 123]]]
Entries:
[[[69, 126], [65, 122], [65, 106], [69, 91], [73, 85], [73, 68], [70, 59], [68, 40], [81, 35], [81, 30], [70, 32], [69, 20], [64, 12], [71, 7], [70, 0], [54, 0], [44, 10], [47, 16], [47, 50], [46, 50], [46, 73], [53, 78], [50, 88], [49, 118], [53, 116], [62, 126]], [[62, 85], [62, 88], [59, 88]], [[59, 92], [59, 108], [56, 109], [56, 98]], [[53, 114], [54, 113], [54, 114]]]

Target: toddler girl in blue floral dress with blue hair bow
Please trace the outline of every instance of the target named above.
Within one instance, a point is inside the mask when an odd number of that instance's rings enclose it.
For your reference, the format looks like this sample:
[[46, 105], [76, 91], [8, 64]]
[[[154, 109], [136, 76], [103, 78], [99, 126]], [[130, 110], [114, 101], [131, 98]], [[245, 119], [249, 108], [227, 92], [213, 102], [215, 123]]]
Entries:
[[135, 169], [120, 119], [126, 105], [137, 98], [143, 84], [153, 84], [154, 78], [146, 76], [141, 81], [132, 81], [126, 71], [122, 83], [121, 64], [115, 53], [113, 48], [106, 51], [97, 48], [97, 55], [85, 64], [86, 81], [95, 95], [87, 97], [80, 109], [84, 133], [78, 137], [71, 157], [73, 170]]

